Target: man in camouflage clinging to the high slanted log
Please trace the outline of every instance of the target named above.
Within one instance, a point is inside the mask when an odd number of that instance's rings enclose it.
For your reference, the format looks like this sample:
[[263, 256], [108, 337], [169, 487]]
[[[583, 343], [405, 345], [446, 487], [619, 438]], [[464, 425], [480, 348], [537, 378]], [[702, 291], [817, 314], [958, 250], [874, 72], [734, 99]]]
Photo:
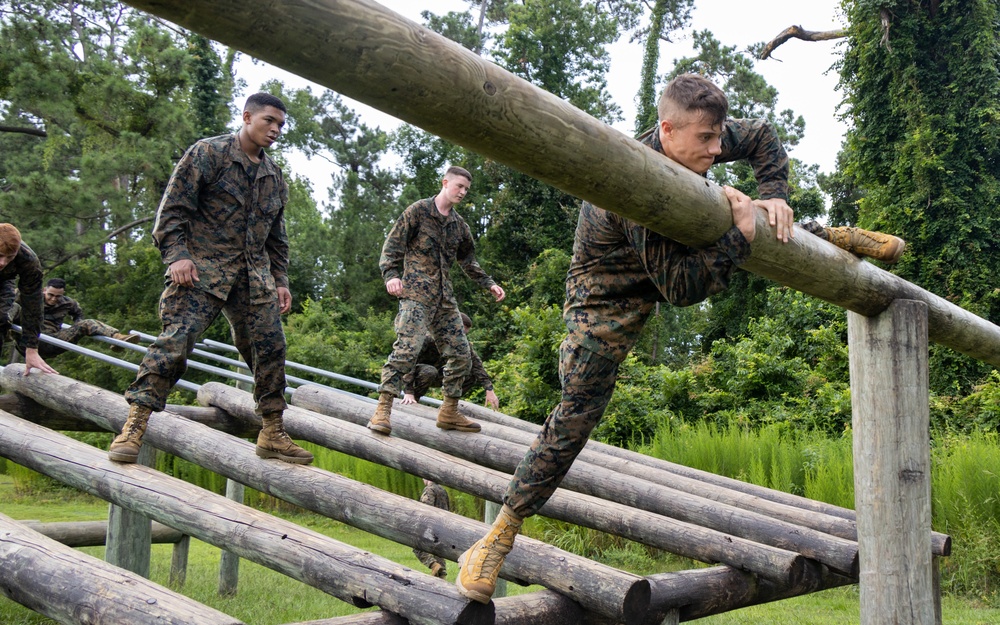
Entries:
[[725, 289], [750, 257], [758, 206], [768, 211], [779, 240], [791, 235], [788, 157], [766, 122], [727, 119], [727, 107], [706, 79], [678, 77], [661, 97], [657, 132], [644, 138], [651, 149], [702, 175], [715, 162], [747, 159], [753, 165], [762, 200], [725, 187], [734, 226], [714, 244], [695, 249], [583, 203], [566, 278], [562, 400], [518, 465], [490, 533], [459, 559], [456, 585], [466, 597], [490, 600], [522, 520], [548, 500], [583, 449], [611, 399], [618, 366], [656, 302], [689, 306]]

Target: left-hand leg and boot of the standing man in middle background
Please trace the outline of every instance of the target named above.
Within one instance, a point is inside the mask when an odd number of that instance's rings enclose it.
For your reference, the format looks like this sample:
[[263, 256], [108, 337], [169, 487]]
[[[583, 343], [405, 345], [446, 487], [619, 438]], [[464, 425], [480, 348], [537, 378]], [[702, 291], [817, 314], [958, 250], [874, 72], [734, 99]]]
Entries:
[[396, 329], [396, 342], [392, 344], [389, 359], [382, 366], [378, 406], [368, 421], [368, 429], [373, 432], [389, 434], [392, 431], [390, 424], [392, 400], [399, 397], [403, 376], [413, 368], [420, 349], [424, 346], [430, 323], [428, 312], [427, 307], [419, 302], [411, 299], [399, 300], [399, 312], [393, 324]]

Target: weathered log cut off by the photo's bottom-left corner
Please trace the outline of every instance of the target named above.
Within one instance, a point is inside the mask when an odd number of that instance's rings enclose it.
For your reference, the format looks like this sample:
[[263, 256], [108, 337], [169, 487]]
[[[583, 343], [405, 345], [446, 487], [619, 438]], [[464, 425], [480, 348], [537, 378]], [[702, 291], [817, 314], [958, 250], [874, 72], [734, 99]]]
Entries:
[[241, 623], [2, 514], [0, 571], [0, 592], [60, 623]]

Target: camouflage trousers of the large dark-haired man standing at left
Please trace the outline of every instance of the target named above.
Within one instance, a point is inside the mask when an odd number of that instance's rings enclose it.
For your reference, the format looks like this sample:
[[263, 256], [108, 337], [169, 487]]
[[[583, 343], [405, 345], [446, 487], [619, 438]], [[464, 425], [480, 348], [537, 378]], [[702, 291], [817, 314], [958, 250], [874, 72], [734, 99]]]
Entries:
[[187, 369], [188, 355], [220, 312], [232, 328], [233, 343], [253, 371], [255, 412], [284, 411], [285, 334], [278, 298], [251, 304], [245, 275], [236, 281], [226, 300], [199, 289], [167, 284], [160, 296], [163, 331], [149, 346], [135, 381], [125, 391], [128, 403], [163, 410], [170, 389]]

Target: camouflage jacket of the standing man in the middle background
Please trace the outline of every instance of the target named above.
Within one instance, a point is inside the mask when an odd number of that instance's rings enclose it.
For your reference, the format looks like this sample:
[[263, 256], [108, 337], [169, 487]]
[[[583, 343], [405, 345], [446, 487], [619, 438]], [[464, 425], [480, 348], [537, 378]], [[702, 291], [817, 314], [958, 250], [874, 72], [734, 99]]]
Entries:
[[378, 266], [384, 282], [403, 280], [404, 298], [456, 308], [449, 275], [456, 261], [484, 289], [496, 284], [476, 261], [469, 225], [454, 208], [447, 217], [439, 213], [429, 197], [408, 206], [396, 220], [382, 245]]

